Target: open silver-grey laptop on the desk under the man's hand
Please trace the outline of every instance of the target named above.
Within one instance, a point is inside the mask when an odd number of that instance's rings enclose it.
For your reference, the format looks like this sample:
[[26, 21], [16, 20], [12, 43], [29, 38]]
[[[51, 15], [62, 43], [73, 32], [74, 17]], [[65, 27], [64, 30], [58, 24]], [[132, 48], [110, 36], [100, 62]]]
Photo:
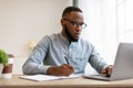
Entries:
[[133, 43], [120, 43], [110, 77], [105, 75], [83, 75], [100, 80], [122, 80], [133, 78]]

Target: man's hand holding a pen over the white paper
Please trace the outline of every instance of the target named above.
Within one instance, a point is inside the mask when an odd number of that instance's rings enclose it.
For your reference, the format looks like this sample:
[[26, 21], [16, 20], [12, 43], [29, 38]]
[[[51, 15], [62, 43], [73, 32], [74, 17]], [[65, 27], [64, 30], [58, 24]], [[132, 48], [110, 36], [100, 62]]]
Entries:
[[74, 73], [74, 69], [71, 65], [68, 64], [50, 67], [47, 72], [48, 75], [55, 75], [55, 76], [69, 76], [72, 73]]

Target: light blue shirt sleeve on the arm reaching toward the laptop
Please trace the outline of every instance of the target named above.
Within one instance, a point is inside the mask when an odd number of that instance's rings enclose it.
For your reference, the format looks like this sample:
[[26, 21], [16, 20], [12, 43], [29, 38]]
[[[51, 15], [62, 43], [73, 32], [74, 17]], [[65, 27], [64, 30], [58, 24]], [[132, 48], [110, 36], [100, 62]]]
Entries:
[[93, 46], [89, 63], [98, 73], [101, 73], [101, 70], [108, 66], [106, 62], [100, 56]]

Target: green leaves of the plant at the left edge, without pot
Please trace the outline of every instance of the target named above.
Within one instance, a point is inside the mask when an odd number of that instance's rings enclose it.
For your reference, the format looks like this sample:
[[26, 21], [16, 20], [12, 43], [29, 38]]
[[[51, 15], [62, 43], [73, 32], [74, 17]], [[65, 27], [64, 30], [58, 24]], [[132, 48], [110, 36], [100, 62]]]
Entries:
[[4, 66], [8, 65], [8, 54], [3, 50], [0, 50], [0, 63]]

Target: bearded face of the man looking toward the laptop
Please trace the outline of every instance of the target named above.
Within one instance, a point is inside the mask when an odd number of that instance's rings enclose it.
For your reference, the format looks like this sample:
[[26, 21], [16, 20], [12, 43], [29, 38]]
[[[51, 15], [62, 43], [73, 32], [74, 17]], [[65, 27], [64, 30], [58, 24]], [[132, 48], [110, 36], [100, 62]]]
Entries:
[[66, 37], [72, 42], [76, 42], [82, 31], [82, 28], [81, 28], [81, 24], [83, 23], [82, 13], [72, 11], [63, 20], [65, 21], [65, 25], [63, 28], [64, 28]]

